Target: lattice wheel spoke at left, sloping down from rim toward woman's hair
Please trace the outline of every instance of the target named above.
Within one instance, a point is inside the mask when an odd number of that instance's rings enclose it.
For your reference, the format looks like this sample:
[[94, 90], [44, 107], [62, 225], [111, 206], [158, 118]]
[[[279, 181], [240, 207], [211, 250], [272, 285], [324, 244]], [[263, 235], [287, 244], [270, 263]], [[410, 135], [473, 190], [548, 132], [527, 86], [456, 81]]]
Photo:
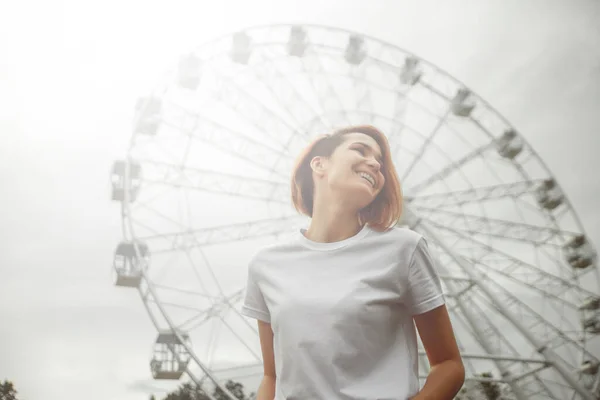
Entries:
[[[249, 200], [264, 200], [288, 204], [288, 184], [266, 179], [215, 172], [207, 169], [182, 167], [155, 161], [142, 161], [145, 175], [142, 182], [238, 196]], [[149, 173], [148, 173], [149, 169]]]

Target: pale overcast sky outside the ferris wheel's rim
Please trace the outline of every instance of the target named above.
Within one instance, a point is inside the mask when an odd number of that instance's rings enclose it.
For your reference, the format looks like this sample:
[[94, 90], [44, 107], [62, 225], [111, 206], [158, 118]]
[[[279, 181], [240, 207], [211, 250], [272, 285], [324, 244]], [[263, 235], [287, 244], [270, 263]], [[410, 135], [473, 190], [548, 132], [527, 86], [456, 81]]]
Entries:
[[24, 399], [147, 399], [155, 331], [111, 262], [109, 170], [132, 105], [243, 27], [363, 32], [430, 60], [516, 126], [600, 244], [597, 0], [13, 1], [0, 11], [0, 379]]

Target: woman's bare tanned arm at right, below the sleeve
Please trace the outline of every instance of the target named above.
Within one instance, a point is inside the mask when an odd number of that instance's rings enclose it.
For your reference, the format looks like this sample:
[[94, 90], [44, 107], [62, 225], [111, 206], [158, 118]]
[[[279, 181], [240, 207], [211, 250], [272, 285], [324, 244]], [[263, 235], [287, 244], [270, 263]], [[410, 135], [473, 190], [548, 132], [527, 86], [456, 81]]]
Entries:
[[445, 305], [414, 316], [431, 369], [412, 400], [452, 400], [465, 380], [465, 368]]

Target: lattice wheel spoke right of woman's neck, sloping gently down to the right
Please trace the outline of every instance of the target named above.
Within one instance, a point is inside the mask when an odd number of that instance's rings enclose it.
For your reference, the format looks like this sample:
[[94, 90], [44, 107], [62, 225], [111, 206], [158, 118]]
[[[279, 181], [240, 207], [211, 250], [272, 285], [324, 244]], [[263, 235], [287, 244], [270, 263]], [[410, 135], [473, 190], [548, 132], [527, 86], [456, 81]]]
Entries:
[[[543, 227], [521, 222], [505, 221], [494, 218], [481, 217], [465, 213], [440, 210], [437, 208], [415, 206], [415, 210], [421, 212], [422, 216], [428, 213], [428, 219], [434, 215], [437, 218], [446, 217], [444, 222], [437, 222], [438, 225], [451, 226], [452, 229], [464, 231], [470, 234], [480, 234], [484, 236], [498, 237], [514, 241], [527, 241], [536, 245], [548, 245], [560, 247], [562, 242], [566, 242], [578, 236], [578, 233], [568, 232], [551, 227]], [[472, 225], [471, 229], [465, 225]], [[557, 243], [560, 242], [560, 243]]]

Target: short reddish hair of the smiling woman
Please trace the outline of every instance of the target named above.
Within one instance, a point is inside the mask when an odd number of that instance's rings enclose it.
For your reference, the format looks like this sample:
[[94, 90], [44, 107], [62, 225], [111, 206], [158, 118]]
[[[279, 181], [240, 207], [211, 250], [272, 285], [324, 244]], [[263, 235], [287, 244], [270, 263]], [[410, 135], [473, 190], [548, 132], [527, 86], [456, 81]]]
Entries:
[[314, 181], [310, 160], [313, 157], [329, 157], [344, 142], [348, 133], [363, 133], [372, 137], [381, 148], [383, 165], [381, 173], [385, 183], [381, 192], [367, 207], [359, 213], [361, 223], [384, 231], [395, 225], [402, 215], [402, 190], [396, 168], [392, 162], [390, 146], [385, 135], [371, 125], [349, 126], [331, 134], [321, 135], [309, 143], [300, 153], [292, 172], [292, 202], [301, 214], [312, 217], [314, 201]]

